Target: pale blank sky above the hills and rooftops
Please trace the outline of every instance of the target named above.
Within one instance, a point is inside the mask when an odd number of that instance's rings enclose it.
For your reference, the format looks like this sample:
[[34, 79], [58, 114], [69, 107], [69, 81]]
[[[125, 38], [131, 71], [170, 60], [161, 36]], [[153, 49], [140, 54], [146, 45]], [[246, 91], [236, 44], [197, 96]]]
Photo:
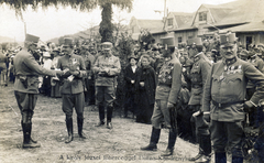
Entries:
[[[168, 12], [195, 12], [202, 3], [220, 4], [234, 0], [166, 0]], [[162, 19], [164, 17], [165, 0], [133, 0], [133, 9], [129, 13], [113, 7], [113, 22], [123, 20], [129, 24], [132, 17], [136, 19]], [[157, 12], [160, 11], [160, 12]], [[24, 32], [37, 35], [46, 42], [54, 37], [74, 34], [95, 25], [101, 21], [101, 9], [90, 12], [80, 12], [70, 7], [33, 11], [29, 8], [23, 12], [24, 22], [15, 17], [14, 10], [9, 6], [0, 6], [0, 36], [8, 36], [14, 41], [24, 41]], [[26, 28], [24, 28], [26, 26]]]

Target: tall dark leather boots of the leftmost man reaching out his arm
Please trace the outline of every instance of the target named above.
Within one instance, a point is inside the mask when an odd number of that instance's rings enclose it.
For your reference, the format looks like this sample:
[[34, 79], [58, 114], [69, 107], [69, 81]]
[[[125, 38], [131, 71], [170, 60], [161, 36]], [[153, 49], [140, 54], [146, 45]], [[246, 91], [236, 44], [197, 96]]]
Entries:
[[31, 130], [32, 130], [32, 123], [22, 123], [22, 129], [23, 129], [23, 144], [22, 148], [40, 148], [41, 144], [37, 143], [36, 141], [33, 141], [31, 139]]

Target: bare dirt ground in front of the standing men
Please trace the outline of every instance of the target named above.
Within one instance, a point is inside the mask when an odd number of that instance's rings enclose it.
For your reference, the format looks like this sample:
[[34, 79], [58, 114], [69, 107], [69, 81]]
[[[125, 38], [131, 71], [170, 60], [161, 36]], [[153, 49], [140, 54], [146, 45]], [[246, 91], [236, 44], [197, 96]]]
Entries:
[[85, 108], [84, 132], [87, 139], [77, 134], [74, 113], [74, 141], [64, 143], [67, 131], [61, 98], [38, 96], [33, 116], [32, 137], [41, 143], [38, 149], [22, 149], [21, 116], [14, 95], [13, 84], [0, 87], [0, 162], [1, 163], [68, 163], [68, 162], [148, 162], [188, 163], [188, 157], [198, 152], [198, 146], [177, 138], [175, 153], [169, 157], [160, 154], [167, 145], [168, 131], [162, 130], [156, 152], [141, 151], [150, 142], [151, 124], [121, 118], [114, 112], [113, 129], [96, 128], [98, 111]]

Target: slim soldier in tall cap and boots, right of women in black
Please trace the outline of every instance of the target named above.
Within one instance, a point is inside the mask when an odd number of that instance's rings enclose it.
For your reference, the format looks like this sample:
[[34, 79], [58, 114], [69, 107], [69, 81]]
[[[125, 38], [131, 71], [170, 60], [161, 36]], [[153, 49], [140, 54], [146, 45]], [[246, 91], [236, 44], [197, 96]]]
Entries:
[[167, 44], [165, 44], [165, 50], [162, 52], [164, 63], [157, 77], [158, 85], [156, 87], [155, 107], [152, 116], [151, 141], [148, 145], [141, 148], [141, 150], [145, 151], [157, 150], [156, 144], [160, 140], [161, 129], [164, 122], [164, 128], [169, 129], [168, 145], [161, 156], [169, 156], [173, 155], [174, 152], [177, 138], [175, 105], [182, 88], [182, 66], [178, 58], [173, 57], [175, 51], [173, 40], [167, 39], [166, 42], [170, 46], [166, 50]]

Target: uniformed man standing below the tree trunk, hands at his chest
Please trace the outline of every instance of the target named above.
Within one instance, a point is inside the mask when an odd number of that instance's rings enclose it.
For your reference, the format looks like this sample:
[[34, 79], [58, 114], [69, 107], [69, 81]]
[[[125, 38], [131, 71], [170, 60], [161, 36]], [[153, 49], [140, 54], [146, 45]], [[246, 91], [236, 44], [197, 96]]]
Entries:
[[112, 55], [112, 43], [105, 42], [102, 45], [103, 55], [99, 55], [94, 65], [96, 74], [96, 100], [99, 109], [100, 122], [97, 127], [105, 124], [105, 104], [107, 107], [107, 128], [112, 129], [113, 101], [116, 99], [116, 76], [120, 73], [119, 58]]

